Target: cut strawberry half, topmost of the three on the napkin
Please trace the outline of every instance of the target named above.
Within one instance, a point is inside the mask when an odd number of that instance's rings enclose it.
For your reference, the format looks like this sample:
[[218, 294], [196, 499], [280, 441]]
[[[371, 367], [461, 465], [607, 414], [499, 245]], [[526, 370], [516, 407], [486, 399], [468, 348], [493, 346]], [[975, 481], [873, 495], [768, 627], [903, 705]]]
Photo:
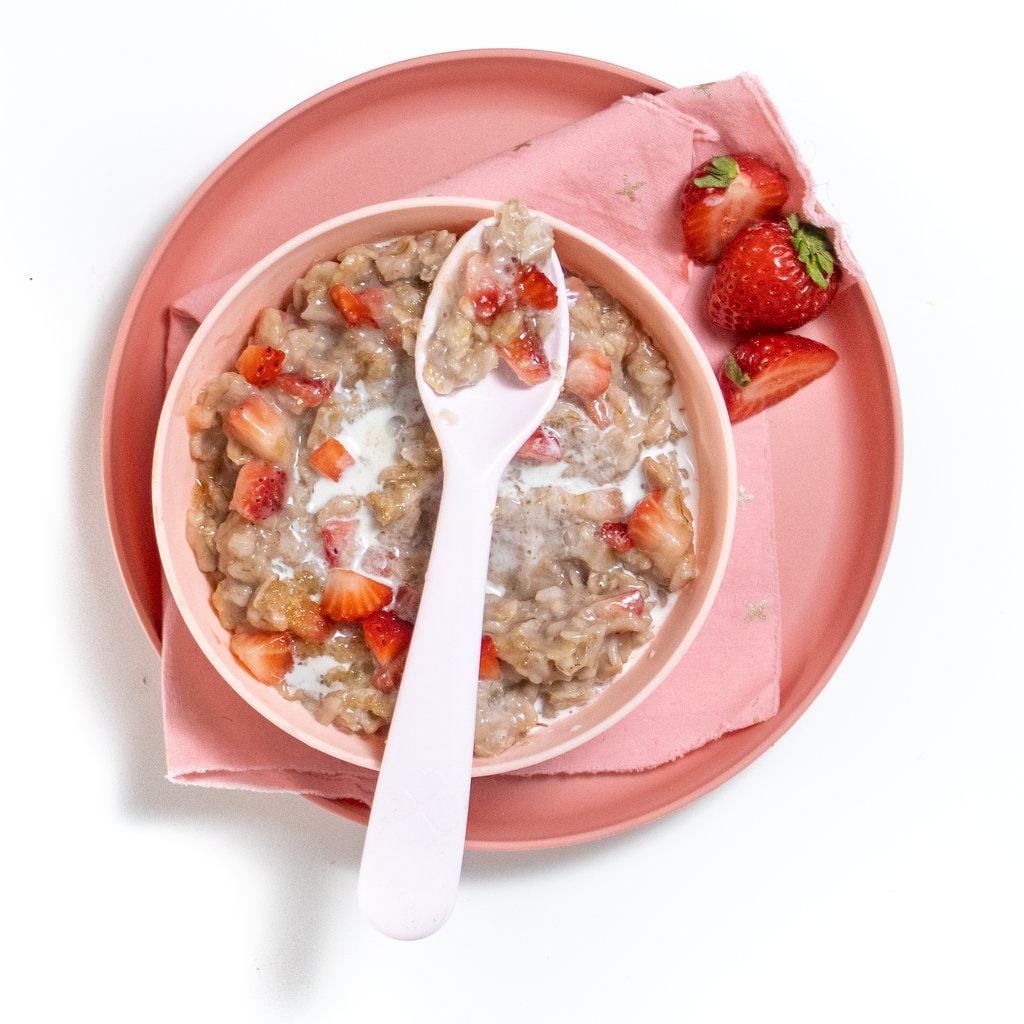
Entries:
[[694, 263], [714, 263], [738, 231], [776, 216], [790, 198], [776, 168], [749, 154], [713, 157], [683, 188], [683, 247]]

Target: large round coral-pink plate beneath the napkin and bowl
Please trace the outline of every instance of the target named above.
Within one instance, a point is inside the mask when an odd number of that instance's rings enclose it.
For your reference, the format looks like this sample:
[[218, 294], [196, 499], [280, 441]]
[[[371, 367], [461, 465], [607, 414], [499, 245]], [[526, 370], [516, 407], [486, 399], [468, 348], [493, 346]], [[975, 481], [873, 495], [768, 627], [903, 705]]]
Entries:
[[[115, 552], [158, 649], [161, 566], [150, 476], [169, 305], [323, 220], [413, 191], [622, 95], [666, 88], [626, 69], [558, 53], [479, 50], [422, 57], [313, 96], [210, 175], [139, 278], [104, 398], [103, 482]], [[415, 153], [416, 161], [395, 159], [402, 152]], [[868, 289], [848, 289], [816, 328], [826, 344], [842, 333], [849, 355], [799, 403], [767, 414], [783, 607], [779, 713], [645, 772], [477, 778], [469, 847], [569, 845], [668, 814], [771, 746], [831, 677], [866, 614], [889, 553], [902, 433], [892, 358]], [[362, 805], [316, 802], [355, 821], [368, 816]]]

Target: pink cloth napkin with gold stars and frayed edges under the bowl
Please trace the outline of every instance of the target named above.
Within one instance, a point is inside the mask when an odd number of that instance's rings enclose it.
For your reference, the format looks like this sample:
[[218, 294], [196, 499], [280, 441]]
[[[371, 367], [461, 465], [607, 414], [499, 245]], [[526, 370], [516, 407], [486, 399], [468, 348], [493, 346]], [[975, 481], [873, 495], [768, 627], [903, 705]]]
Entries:
[[[842, 233], [817, 208], [809, 174], [751, 76], [625, 97], [607, 110], [434, 182], [420, 195], [510, 197], [602, 239], [643, 269], [694, 328], [716, 368], [729, 339], [705, 318], [706, 269], [682, 256], [679, 199], [688, 172], [751, 151], [787, 175], [792, 206]], [[171, 315], [176, 365], [196, 324], [231, 280], [185, 296]], [[734, 428], [739, 507], [722, 588], [695, 643], [643, 705], [606, 733], [523, 773], [640, 771], [684, 756], [778, 710], [780, 614], [767, 419]], [[212, 670], [173, 601], [164, 612], [163, 687], [169, 777], [369, 802], [376, 775], [310, 750], [267, 723]]]

